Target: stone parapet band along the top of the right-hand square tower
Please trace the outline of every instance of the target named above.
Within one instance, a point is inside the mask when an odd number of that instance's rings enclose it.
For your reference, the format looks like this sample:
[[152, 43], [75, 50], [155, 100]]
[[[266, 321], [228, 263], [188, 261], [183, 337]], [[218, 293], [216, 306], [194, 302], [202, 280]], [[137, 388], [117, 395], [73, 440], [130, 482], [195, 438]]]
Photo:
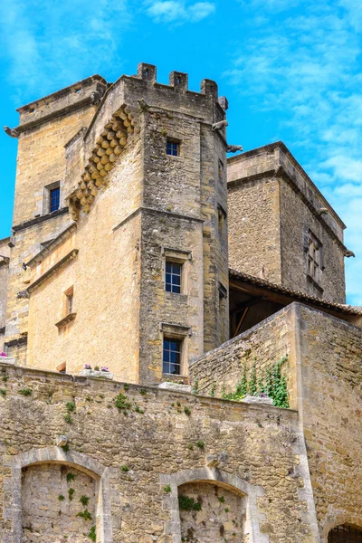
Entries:
[[243, 180], [246, 182], [253, 178], [268, 176], [286, 176], [295, 190], [308, 202], [313, 212], [322, 222], [328, 224], [338, 240], [343, 243], [346, 224], [282, 141], [227, 159], [228, 186]]

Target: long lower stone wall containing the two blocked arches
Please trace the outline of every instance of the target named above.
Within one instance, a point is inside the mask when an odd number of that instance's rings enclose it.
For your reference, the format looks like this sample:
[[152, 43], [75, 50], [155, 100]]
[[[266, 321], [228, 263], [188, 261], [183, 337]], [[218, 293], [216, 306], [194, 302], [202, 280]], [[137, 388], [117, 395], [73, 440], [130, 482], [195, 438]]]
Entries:
[[[224, 541], [233, 532], [249, 543], [318, 541], [295, 412], [21, 367], [0, 373], [4, 543], [23, 530], [24, 540], [65, 541], [76, 526], [71, 540], [83, 543], [94, 516], [99, 543], [181, 543], [187, 534]], [[59, 435], [66, 447], [56, 445]], [[71, 502], [68, 472], [76, 474]], [[99, 485], [95, 501], [80, 473]], [[91, 520], [76, 516], [81, 492]], [[201, 509], [180, 515], [178, 494]]]

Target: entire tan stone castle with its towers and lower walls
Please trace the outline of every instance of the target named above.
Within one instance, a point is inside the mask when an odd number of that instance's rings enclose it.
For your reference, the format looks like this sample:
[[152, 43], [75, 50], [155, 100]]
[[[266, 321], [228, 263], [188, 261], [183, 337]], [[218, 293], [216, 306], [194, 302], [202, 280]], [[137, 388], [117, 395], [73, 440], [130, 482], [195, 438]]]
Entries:
[[226, 110], [141, 63], [5, 127], [1, 542], [362, 543], [345, 224]]

